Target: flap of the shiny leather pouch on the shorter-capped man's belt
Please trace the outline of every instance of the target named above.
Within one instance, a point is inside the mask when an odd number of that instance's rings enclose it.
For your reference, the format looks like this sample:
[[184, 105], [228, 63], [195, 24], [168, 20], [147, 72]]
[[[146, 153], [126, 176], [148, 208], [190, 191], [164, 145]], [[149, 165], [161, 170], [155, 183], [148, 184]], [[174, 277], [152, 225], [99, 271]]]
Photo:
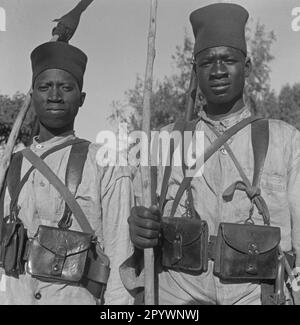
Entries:
[[39, 244], [58, 256], [69, 256], [90, 248], [92, 235], [78, 231], [39, 226], [35, 235]]

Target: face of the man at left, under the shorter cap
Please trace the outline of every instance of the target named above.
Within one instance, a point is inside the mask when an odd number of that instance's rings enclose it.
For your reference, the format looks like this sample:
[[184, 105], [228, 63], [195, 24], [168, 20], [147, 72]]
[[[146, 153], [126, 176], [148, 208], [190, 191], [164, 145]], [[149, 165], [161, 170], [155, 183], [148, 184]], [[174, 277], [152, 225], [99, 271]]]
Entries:
[[35, 80], [32, 103], [40, 122], [49, 128], [73, 126], [85, 93], [81, 93], [76, 79], [67, 71], [45, 70]]

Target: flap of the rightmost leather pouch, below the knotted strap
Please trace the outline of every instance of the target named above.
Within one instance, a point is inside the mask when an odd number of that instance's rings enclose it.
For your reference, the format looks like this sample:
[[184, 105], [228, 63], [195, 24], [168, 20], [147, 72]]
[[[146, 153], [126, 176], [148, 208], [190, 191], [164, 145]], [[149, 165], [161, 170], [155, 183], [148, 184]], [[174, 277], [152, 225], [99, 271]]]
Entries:
[[245, 254], [266, 253], [280, 243], [278, 227], [221, 223], [220, 230], [230, 247]]

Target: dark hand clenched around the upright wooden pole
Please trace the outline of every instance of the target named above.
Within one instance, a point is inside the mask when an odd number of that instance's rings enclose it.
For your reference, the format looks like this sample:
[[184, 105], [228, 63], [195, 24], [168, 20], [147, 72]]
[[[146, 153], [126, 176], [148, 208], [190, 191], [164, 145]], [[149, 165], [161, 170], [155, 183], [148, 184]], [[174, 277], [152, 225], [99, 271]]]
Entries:
[[130, 238], [134, 246], [140, 249], [157, 246], [160, 236], [161, 214], [156, 206], [149, 209], [134, 207], [128, 218]]

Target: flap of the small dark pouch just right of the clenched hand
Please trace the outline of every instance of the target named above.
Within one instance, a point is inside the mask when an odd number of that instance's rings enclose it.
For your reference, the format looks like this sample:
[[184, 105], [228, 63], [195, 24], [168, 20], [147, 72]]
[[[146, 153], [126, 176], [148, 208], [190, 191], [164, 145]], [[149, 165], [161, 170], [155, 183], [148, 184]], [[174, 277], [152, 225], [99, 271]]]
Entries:
[[180, 240], [182, 246], [187, 246], [196, 241], [202, 234], [206, 223], [191, 218], [162, 218], [162, 234], [163, 238], [169, 243], [174, 243]]

